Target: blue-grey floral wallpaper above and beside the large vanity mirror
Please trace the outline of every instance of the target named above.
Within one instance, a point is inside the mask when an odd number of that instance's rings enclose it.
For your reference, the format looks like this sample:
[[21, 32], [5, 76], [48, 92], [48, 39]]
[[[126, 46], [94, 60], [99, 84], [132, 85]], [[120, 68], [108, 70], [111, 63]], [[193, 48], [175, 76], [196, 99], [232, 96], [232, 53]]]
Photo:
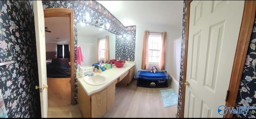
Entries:
[[[126, 34], [130, 38], [117, 38], [116, 49], [122, 52], [116, 52], [117, 56], [122, 59], [130, 58], [130, 61], [134, 61], [135, 56], [135, 40], [136, 40], [136, 26], [125, 27], [118, 19], [116, 19], [104, 6], [99, 4], [95, 0], [43, 0], [43, 8], [70, 8], [74, 10], [74, 52], [75, 52], [75, 70], [78, 67], [76, 62], [76, 48], [77, 48], [77, 32], [76, 23], [82, 21], [86, 12], [90, 14], [94, 20], [98, 20], [103, 24], [109, 23], [110, 28], [119, 31], [121, 34]], [[131, 46], [130, 46], [131, 45]], [[75, 101], [77, 103], [77, 79], [75, 79]]]

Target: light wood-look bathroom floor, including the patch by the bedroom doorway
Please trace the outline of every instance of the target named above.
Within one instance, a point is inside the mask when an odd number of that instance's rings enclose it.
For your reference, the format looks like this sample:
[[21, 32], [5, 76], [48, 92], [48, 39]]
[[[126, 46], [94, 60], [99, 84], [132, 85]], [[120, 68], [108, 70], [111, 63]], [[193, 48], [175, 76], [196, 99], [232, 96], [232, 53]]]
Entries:
[[[177, 107], [164, 108], [161, 89], [137, 87], [137, 80], [127, 86], [116, 85], [116, 100], [103, 118], [176, 118]], [[78, 105], [48, 107], [48, 117], [82, 117]]]

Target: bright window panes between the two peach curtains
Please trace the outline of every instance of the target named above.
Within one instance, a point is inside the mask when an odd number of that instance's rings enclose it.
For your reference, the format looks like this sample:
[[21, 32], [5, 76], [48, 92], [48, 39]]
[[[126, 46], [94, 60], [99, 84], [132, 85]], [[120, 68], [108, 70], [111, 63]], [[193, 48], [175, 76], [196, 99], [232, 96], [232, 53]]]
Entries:
[[149, 35], [148, 37], [148, 62], [158, 64], [161, 57], [162, 35]]

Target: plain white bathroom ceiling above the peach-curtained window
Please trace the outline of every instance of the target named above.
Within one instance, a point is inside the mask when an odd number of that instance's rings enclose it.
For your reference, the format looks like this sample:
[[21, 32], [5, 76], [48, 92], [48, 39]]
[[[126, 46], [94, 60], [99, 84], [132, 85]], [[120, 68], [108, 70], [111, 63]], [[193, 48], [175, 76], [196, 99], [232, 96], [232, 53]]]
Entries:
[[183, 0], [96, 0], [124, 26], [138, 24], [182, 28]]

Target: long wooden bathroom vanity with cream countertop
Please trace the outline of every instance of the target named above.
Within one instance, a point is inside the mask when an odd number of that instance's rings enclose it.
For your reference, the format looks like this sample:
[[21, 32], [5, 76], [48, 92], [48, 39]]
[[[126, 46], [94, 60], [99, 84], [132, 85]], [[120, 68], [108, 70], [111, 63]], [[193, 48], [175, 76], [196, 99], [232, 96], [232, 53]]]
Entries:
[[78, 79], [78, 107], [85, 118], [100, 118], [115, 103], [116, 83], [127, 86], [134, 78], [135, 62], [126, 61], [123, 67], [102, 71], [108, 81], [102, 85], [90, 85], [84, 77]]

